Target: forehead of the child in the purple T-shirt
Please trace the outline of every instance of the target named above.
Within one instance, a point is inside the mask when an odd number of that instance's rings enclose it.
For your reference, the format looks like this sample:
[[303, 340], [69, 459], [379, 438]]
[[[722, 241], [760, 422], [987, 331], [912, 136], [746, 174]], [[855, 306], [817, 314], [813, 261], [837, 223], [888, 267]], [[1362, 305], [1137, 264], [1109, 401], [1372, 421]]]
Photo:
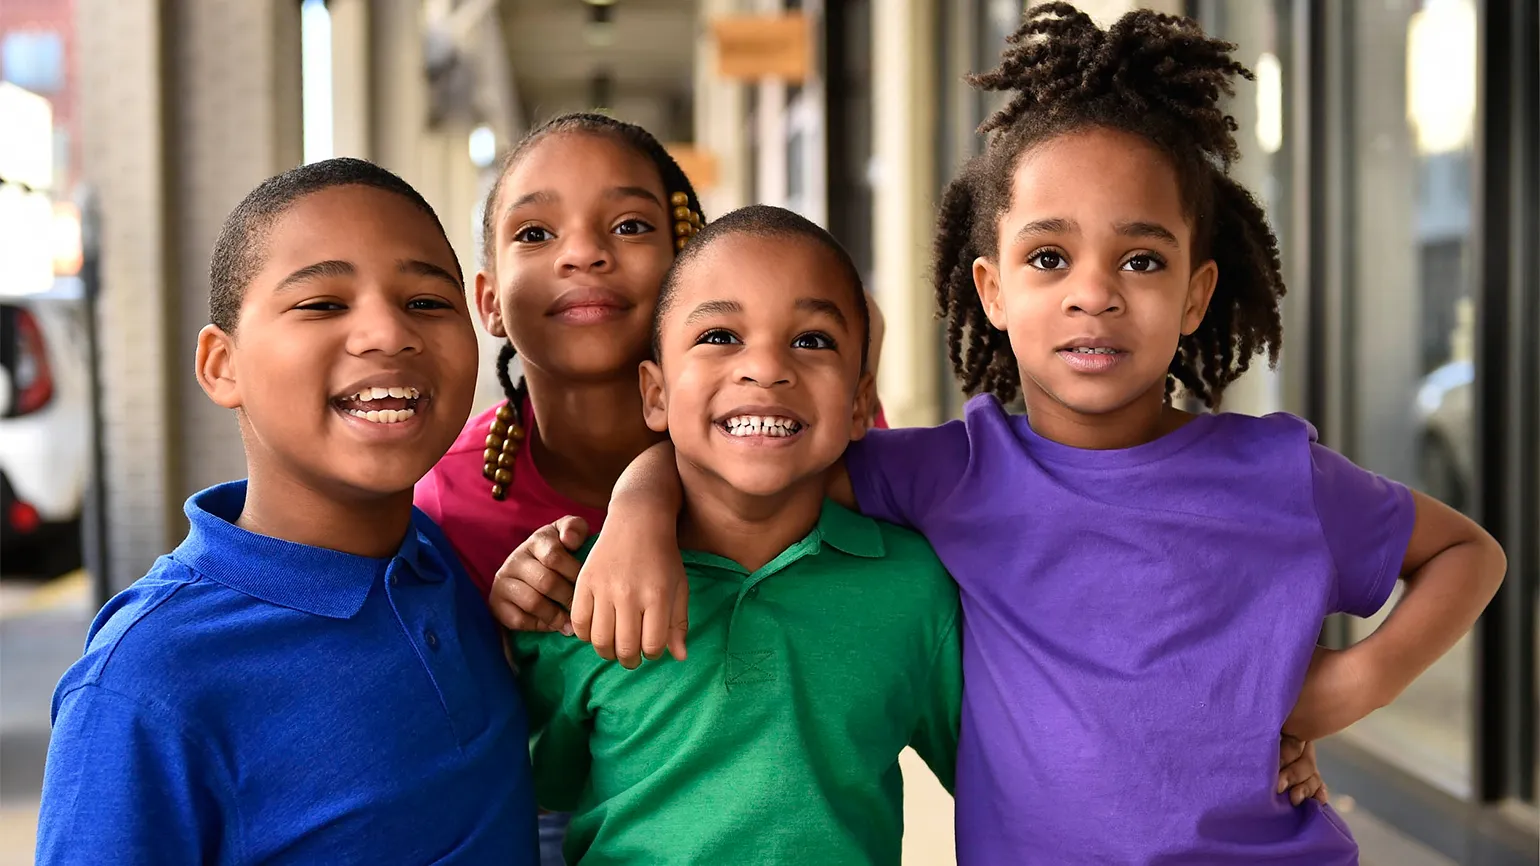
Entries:
[[1150, 142], [1115, 129], [1084, 129], [1049, 139], [1016, 160], [1010, 216], [1066, 217], [1083, 227], [1116, 222], [1186, 225], [1181, 186], [1170, 160]]

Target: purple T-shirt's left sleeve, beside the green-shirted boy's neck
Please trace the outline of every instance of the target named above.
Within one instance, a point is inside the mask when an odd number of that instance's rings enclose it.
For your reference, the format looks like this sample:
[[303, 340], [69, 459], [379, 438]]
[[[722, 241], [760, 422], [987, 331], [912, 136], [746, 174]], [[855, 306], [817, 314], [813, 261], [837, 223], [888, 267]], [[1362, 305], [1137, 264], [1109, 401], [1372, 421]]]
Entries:
[[872, 430], [845, 451], [861, 513], [921, 533], [961, 484], [967, 462], [969, 436], [961, 421]]

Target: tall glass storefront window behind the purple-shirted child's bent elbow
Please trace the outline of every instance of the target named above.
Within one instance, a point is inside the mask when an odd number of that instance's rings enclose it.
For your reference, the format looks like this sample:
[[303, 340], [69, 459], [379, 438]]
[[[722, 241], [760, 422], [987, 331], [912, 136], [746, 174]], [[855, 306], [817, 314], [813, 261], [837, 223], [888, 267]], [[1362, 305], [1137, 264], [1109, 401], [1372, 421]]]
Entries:
[[[1475, 5], [1378, 0], [1351, 11], [1348, 447], [1361, 465], [1469, 510]], [[1383, 618], [1354, 621], [1354, 639]], [[1472, 664], [1466, 638], [1349, 737], [1469, 797]]]

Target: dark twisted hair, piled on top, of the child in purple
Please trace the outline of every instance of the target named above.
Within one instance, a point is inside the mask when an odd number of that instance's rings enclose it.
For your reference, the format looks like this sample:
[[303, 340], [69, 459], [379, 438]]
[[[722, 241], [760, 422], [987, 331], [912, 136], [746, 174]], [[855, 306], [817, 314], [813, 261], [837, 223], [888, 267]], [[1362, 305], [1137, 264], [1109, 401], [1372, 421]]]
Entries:
[[1237, 123], [1220, 105], [1234, 96], [1232, 79], [1250, 71], [1230, 57], [1234, 45], [1204, 35], [1190, 18], [1149, 9], [1101, 29], [1069, 3], [1044, 3], [1007, 43], [999, 66], [969, 83], [1013, 96], [979, 126], [989, 137], [984, 153], [947, 185], [936, 227], [936, 302], [962, 388], [1001, 402], [1021, 391], [1010, 339], [990, 327], [973, 287], [973, 260], [998, 254], [1021, 156], [1066, 133], [1110, 128], [1149, 140], [1170, 160], [1194, 222], [1194, 260], [1218, 265], [1207, 314], [1181, 337], [1166, 379], [1167, 394], [1181, 384], [1215, 407], [1254, 354], [1266, 350], [1277, 364], [1283, 342], [1278, 239], [1229, 176], [1240, 157]]

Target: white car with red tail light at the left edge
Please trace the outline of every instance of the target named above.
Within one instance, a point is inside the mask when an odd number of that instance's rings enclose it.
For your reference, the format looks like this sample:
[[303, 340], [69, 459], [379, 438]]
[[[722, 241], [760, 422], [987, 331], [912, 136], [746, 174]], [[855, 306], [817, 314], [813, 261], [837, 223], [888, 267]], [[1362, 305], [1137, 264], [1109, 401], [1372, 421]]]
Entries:
[[89, 387], [79, 282], [0, 294], [0, 559], [8, 576], [52, 576], [80, 562]]

